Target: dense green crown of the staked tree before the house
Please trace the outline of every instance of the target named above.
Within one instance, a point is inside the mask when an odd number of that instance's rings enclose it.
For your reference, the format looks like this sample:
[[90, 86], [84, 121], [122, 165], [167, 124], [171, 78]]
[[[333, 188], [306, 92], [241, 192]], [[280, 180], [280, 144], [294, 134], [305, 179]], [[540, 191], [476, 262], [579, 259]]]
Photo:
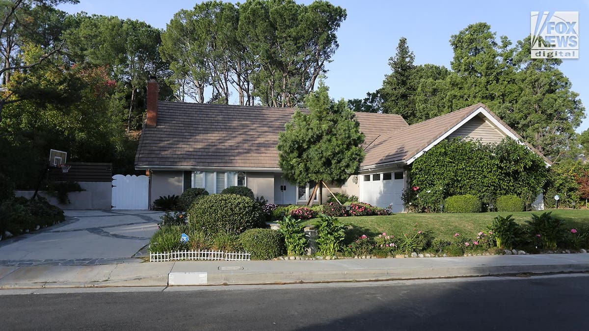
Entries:
[[364, 159], [364, 134], [354, 113], [343, 99], [330, 99], [328, 90], [320, 81], [305, 99], [309, 113], [296, 110], [279, 135], [279, 164], [291, 183], [343, 181]]

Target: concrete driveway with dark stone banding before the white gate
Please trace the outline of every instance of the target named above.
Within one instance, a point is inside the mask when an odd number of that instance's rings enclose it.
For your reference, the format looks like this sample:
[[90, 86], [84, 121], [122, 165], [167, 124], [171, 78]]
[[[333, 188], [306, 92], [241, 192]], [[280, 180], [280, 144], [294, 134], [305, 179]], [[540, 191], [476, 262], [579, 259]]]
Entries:
[[141, 262], [163, 213], [148, 210], [66, 210], [66, 221], [0, 241], [0, 265], [89, 265]]

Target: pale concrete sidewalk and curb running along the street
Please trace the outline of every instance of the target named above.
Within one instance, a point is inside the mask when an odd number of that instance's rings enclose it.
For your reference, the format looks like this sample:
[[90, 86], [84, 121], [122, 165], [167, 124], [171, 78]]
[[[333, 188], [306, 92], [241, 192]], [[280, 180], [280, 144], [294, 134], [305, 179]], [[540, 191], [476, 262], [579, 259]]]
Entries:
[[589, 272], [589, 254], [0, 266], [0, 289], [353, 282]]

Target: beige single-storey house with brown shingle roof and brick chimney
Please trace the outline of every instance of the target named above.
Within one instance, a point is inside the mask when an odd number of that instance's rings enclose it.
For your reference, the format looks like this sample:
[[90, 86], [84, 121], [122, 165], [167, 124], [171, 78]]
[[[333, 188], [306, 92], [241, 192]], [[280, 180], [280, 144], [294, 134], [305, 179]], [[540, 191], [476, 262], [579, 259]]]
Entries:
[[[157, 81], [151, 79], [147, 121], [135, 157], [135, 168], [150, 176], [150, 204], [190, 187], [212, 194], [229, 186], [247, 186], [270, 203], [306, 203], [315, 183], [289, 183], [278, 166], [279, 133], [293, 108], [157, 101], [157, 94]], [[396, 212], [405, 209], [401, 194], [408, 186], [408, 166], [440, 141], [523, 141], [484, 104], [413, 125], [394, 114], [357, 112], [356, 118], [366, 135], [366, 158], [358, 174], [330, 188], [379, 207], [392, 205]], [[323, 194], [325, 201], [327, 190]]]

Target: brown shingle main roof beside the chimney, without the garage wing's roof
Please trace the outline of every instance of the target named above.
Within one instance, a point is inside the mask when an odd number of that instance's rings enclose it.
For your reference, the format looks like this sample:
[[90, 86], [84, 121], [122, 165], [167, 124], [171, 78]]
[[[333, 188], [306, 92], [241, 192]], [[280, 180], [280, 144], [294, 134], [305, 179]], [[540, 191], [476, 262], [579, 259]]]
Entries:
[[[277, 168], [278, 134], [293, 108], [158, 102], [144, 127], [135, 167]], [[356, 113], [365, 145], [408, 124], [399, 115]]]

